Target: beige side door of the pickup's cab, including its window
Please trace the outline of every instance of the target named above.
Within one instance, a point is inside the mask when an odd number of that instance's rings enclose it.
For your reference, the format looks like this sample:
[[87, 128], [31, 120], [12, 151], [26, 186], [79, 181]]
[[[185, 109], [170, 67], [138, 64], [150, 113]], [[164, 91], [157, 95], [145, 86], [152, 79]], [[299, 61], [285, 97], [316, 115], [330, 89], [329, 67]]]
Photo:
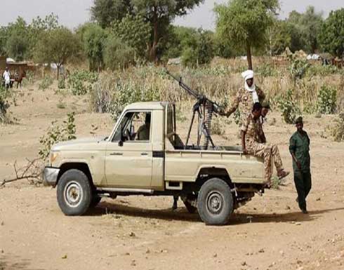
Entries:
[[108, 142], [105, 177], [110, 187], [150, 187], [152, 182], [152, 112], [128, 111]]

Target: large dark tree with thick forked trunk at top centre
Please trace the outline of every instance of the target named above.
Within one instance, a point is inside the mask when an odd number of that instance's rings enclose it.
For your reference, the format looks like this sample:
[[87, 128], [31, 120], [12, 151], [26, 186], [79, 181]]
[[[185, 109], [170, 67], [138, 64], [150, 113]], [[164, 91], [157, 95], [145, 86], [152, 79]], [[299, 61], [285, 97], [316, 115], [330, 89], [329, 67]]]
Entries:
[[100, 22], [102, 27], [109, 26], [113, 20], [121, 20], [126, 13], [142, 15], [151, 26], [149, 59], [156, 61], [158, 48], [171, 20], [176, 16], [185, 15], [188, 10], [203, 2], [204, 0], [95, 0], [91, 13], [93, 20]]

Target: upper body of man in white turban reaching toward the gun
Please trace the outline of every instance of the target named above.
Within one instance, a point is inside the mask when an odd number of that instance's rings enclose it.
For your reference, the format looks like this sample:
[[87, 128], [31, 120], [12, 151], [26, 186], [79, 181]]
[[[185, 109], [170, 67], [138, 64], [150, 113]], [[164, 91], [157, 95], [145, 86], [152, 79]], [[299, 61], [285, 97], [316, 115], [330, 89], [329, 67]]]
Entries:
[[245, 123], [247, 116], [251, 114], [253, 104], [255, 102], [262, 102], [265, 99], [263, 91], [253, 84], [253, 75], [252, 70], [246, 70], [246, 72], [242, 73], [245, 81], [244, 88], [239, 89], [228, 112], [223, 112], [223, 115], [229, 117], [239, 107], [240, 125]]

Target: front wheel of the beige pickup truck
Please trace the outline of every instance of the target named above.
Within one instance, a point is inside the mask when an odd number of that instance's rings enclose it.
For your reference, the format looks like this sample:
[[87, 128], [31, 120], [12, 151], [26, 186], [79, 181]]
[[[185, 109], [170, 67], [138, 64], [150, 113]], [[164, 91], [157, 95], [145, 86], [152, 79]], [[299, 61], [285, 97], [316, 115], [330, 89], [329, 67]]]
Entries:
[[91, 205], [92, 189], [81, 170], [67, 170], [58, 181], [58, 205], [65, 215], [83, 215]]

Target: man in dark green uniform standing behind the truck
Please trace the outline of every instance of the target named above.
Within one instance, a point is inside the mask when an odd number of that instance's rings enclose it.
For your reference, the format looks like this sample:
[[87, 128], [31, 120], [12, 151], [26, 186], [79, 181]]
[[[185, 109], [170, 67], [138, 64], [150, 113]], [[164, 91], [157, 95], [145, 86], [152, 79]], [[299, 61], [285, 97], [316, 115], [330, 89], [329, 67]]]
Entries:
[[293, 158], [293, 173], [296, 191], [298, 191], [298, 206], [307, 214], [306, 197], [312, 187], [310, 175], [310, 137], [303, 130], [303, 119], [296, 119], [296, 133], [290, 138], [289, 151]]

